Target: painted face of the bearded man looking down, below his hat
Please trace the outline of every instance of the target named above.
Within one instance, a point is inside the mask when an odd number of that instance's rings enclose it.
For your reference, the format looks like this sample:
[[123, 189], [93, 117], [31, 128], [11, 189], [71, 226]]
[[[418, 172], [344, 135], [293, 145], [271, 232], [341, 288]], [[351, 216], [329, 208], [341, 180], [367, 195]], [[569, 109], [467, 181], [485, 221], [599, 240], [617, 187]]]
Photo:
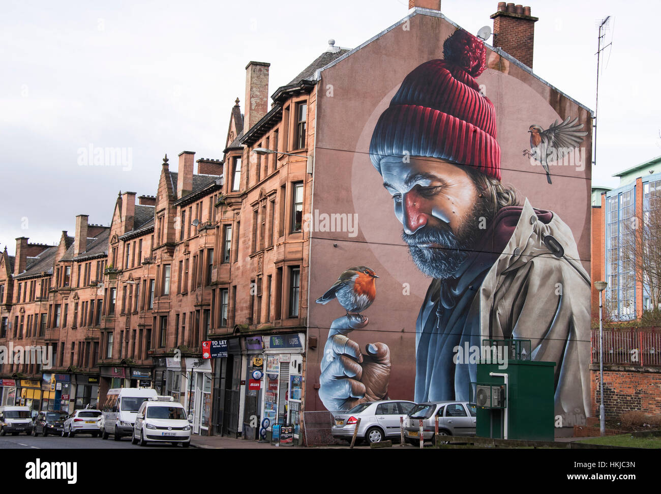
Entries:
[[480, 233], [485, 201], [463, 167], [442, 159], [410, 157], [381, 161], [383, 186], [393, 196], [402, 238], [420, 271], [452, 276]]

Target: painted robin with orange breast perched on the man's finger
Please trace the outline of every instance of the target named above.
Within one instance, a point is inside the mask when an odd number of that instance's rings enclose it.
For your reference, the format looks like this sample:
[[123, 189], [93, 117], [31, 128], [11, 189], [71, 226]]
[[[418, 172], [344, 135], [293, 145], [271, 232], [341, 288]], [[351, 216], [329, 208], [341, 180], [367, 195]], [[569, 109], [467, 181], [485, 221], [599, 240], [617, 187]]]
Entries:
[[351, 313], [355, 313], [364, 319], [360, 313], [371, 306], [376, 297], [376, 278], [378, 278], [373, 270], [366, 266], [355, 266], [348, 268], [333, 286], [317, 298], [317, 304], [326, 305], [334, 298], [340, 302], [340, 306], [346, 310], [347, 317], [352, 317]]

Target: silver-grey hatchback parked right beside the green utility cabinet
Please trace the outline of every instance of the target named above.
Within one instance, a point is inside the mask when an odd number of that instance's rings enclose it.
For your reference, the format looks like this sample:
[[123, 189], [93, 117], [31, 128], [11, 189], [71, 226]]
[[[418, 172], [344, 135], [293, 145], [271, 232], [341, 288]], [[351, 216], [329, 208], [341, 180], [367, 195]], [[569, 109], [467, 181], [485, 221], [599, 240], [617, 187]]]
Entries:
[[420, 419], [424, 440], [436, 442], [434, 431], [438, 416], [438, 434], [441, 436], [475, 436], [475, 405], [467, 401], [427, 401], [410, 411], [405, 427], [407, 442], [420, 441]]

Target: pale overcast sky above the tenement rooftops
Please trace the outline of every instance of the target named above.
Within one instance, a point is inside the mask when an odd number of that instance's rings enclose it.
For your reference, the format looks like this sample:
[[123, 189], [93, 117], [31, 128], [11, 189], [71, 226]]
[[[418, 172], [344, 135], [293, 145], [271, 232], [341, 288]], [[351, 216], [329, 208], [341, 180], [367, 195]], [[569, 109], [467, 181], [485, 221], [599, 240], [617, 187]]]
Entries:
[[[0, 3], [0, 248], [56, 243], [75, 216], [108, 225], [119, 190], [155, 194], [165, 153], [222, 158], [245, 65], [270, 62], [270, 94], [327, 48], [354, 48], [408, 13], [408, 0], [8, 1]], [[476, 34], [497, 0], [443, 0]], [[611, 15], [600, 77], [595, 185], [661, 155], [661, 5], [530, 0], [534, 71], [594, 110], [598, 19]], [[489, 40], [489, 43], [491, 40]], [[548, 122], [540, 122], [548, 123]], [[81, 166], [120, 147], [130, 165]]]

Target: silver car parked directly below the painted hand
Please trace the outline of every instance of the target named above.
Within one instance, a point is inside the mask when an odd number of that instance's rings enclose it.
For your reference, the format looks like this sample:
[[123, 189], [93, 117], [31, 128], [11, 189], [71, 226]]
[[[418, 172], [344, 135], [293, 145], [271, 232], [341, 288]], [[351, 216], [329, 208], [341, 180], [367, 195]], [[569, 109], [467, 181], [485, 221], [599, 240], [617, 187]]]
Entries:
[[387, 438], [399, 438], [400, 417], [406, 417], [415, 403], [403, 400], [368, 401], [356, 405], [348, 412], [334, 413], [331, 434], [334, 438], [351, 440], [360, 417], [356, 438], [369, 443], [381, 442]]

